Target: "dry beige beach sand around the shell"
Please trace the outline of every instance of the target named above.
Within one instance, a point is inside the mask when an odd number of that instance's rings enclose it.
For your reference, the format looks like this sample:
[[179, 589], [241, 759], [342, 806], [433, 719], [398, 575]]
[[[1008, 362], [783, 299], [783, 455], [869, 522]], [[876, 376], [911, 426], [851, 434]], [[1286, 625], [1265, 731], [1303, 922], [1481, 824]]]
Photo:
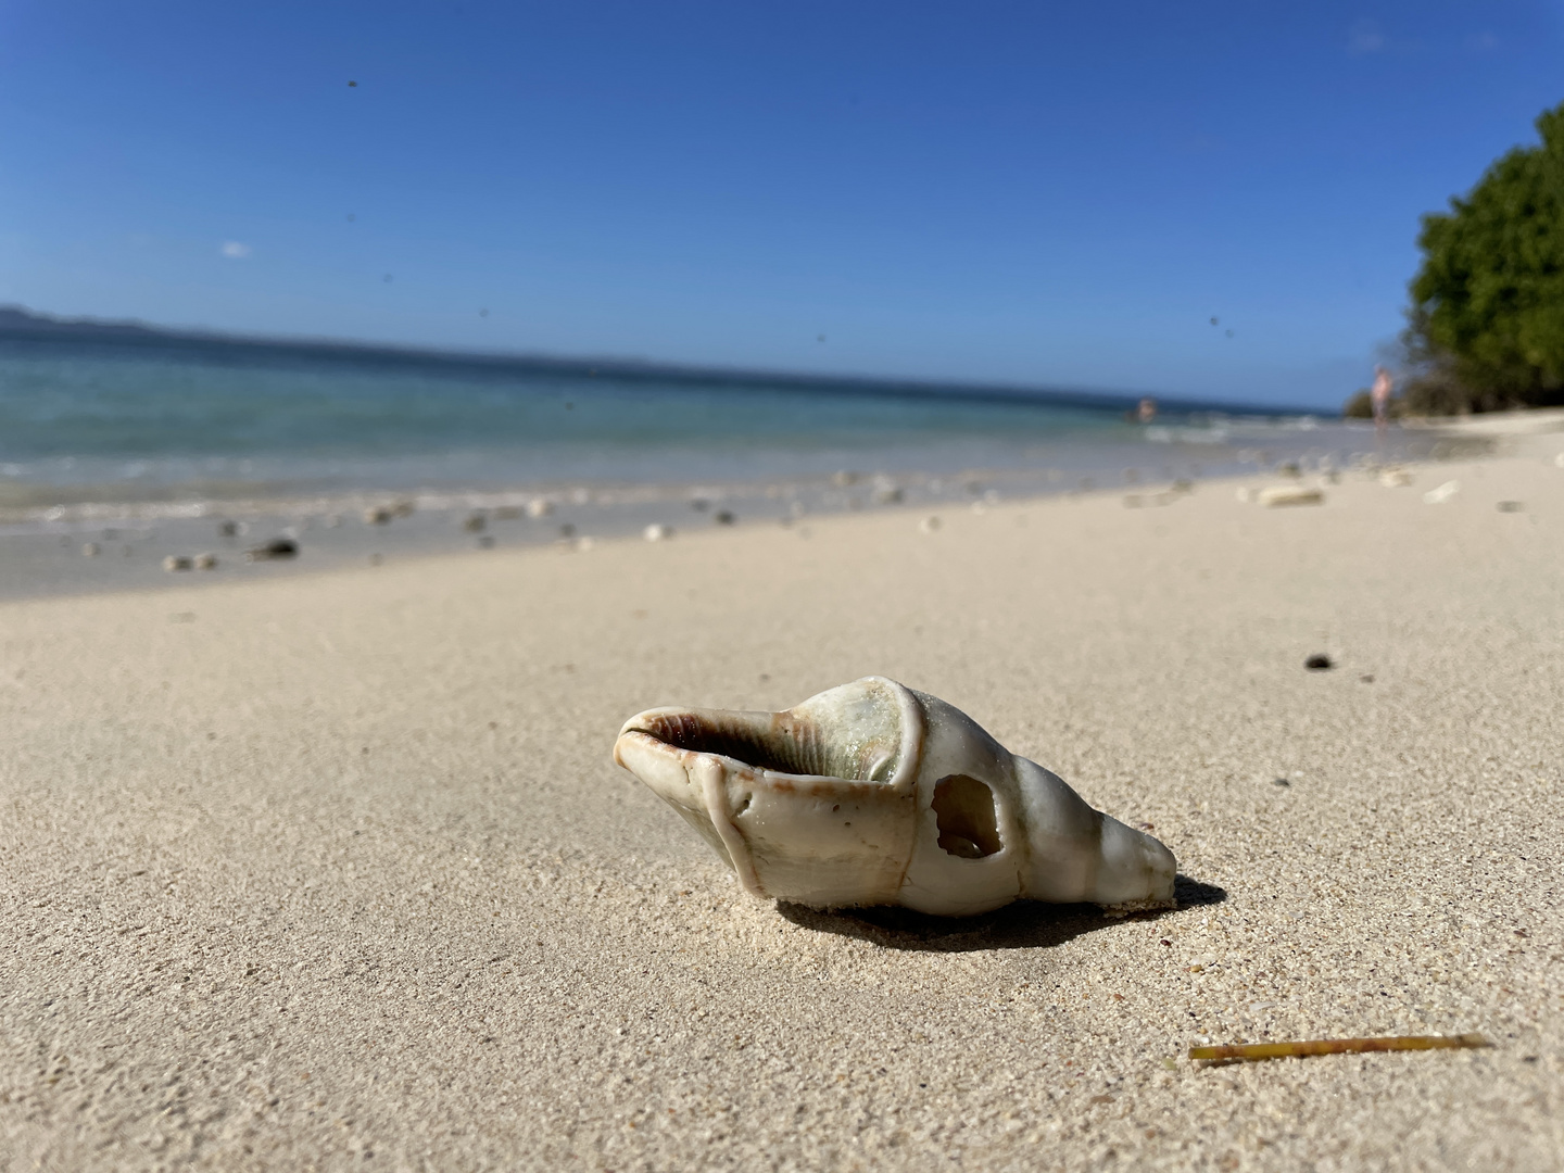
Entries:
[[[0, 1168], [1558, 1168], [1551, 443], [5, 604]], [[779, 909], [610, 763], [866, 673], [1154, 824], [1186, 907]]]

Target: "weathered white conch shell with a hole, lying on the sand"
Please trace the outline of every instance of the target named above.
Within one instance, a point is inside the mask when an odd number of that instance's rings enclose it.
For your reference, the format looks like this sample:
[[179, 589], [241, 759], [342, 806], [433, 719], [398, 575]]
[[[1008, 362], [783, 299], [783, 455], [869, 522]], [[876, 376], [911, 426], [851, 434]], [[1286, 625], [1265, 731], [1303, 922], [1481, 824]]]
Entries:
[[866, 676], [780, 713], [649, 708], [613, 760], [755, 896], [943, 917], [1015, 899], [1173, 904], [1173, 852], [959, 708]]

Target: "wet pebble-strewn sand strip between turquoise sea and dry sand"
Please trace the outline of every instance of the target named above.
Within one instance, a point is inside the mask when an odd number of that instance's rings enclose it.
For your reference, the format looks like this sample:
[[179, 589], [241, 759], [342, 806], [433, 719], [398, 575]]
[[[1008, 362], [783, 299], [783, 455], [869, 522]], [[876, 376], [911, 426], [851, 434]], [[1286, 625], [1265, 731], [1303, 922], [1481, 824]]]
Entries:
[[[1397, 465], [1486, 455], [1514, 446], [1508, 435], [1464, 436], [1459, 429], [1394, 435], [1389, 450], [1334, 454], [1311, 446], [1308, 430], [1292, 447], [1215, 447], [1170, 439], [1139, 449], [1060, 446], [1051, 463], [962, 471], [763, 477], [746, 482], [546, 482], [491, 490], [355, 490], [332, 496], [233, 500], [119, 500], [77, 505], [0, 507], [0, 597], [155, 590], [166, 557], [210, 555], [214, 577], [303, 571], [307, 563], [346, 568], [388, 558], [424, 558], [477, 547], [535, 547], [610, 541], [662, 526], [674, 533], [726, 522], [802, 524], [857, 511], [942, 511], [1001, 500], [1049, 500], [1090, 494], [1139, 496], [1154, 504], [1184, 485], [1221, 485], [1265, 475], [1264, 465], [1308, 477], [1356, 475]], [[1368, 435], [1359, 438], [1367, 443]], [[1275, 439], [1275, 436], [1272, 438]], [[1121, 461], [1135, 458], [1135, 463]], [[1070, 461], [1076, 463], [1071, 465]], [[873, 461], [863, 461], [873, 466]], [[368, 519], [378, 518], [375, 524]], [[228, 533], [228, 529], [238, 533]], [[227, 535], [227, 536], [225, 536]], [[242, 565], [256, 541], [286, 538], [297, 561]]]

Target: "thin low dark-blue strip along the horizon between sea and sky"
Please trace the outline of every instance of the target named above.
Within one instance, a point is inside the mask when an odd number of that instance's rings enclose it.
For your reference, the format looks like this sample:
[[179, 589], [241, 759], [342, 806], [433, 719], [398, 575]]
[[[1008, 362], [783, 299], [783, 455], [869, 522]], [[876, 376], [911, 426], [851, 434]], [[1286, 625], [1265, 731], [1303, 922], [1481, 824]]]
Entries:
[[[260, 338], [227, 335], [214, 330], [167, 330], [145, 322], [111, 322], [95, 317], [58, 317], [34, 313], [20, 305], [0, 307], [0, 341], [34, 339], [41, 343], [80, 343], [131, 346], [160, 350], [203, 352], [214, 358], [310, 360], [338, 361], [355, 366], [422, 366], [436, 369], [486, 369], [546, 372], [554, 375], [612, 377], [627, 380], [679, 378], [734, 388], [788, 388], [796, 391], [856, 393], [870, 396], [902, 396], [915, 399], [988, 399], [998, 402], [1035, 402], [1059, 407], [1081, 407], [1099, 411], [1129, 411], [1150, 393], [1092, 391], [1076, 388], [1028, 388], [993, 383], [924, 382], [913, 378], [871, 378], [865, 375], [809, 375], [784, 371], [743, 371], [727, 368], [682, 366], [627, 358], [560, 358], [529, 353], [485, 353], [402, 347], [382, 343], [352, 343], [325, 338]], [[1250, 407], [1211, 400], [1153, 396], [1165, 411], [1173, 413], [1243, 413], [1259, 416], [1315, 414], [1309, 408]]]

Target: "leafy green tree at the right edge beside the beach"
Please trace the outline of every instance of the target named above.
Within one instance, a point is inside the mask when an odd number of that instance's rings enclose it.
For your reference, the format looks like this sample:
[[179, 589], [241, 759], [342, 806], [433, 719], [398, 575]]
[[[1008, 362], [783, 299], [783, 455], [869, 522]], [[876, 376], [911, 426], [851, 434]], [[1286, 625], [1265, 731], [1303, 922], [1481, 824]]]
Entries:
[[1536, 125], [1539, 145], [1423, 216], [1408, 410], [1564, 404], [1564, 105]]

